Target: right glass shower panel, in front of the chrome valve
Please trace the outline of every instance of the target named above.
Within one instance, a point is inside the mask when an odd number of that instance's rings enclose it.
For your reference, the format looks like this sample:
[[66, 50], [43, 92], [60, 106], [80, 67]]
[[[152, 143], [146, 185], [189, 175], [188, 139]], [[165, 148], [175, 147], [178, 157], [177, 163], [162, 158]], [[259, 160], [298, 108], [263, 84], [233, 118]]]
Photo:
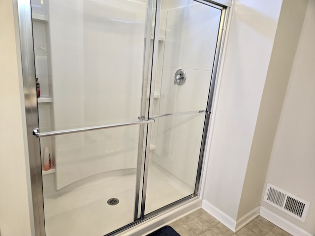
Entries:
[[[206, 4], [162, 1], [154, 115], [207, 109], [220, 20]], [[174, 84], [179, 69], [187, 78]], [[194, 193], [204, 121], [205, 112], [174, 114], [152, 125], [146, 214]]]

